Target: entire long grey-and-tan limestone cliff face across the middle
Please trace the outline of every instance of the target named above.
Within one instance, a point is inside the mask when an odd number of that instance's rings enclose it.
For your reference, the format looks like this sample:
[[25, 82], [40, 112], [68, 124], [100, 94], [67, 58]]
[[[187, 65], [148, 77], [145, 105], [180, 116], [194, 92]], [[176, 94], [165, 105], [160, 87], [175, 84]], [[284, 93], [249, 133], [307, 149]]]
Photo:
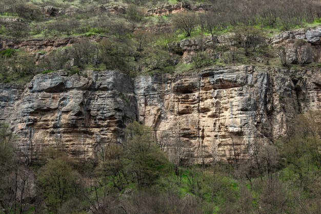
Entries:
[[[194, 162], [246, 158], [255, 140], [289, 132], [296, 114], [321, 108], [319, 71], [234, 66], [131, 78], [117, 71], [37, 75], [0, 91], [1, 120], [28, 149], [63, 143], [92, 158], [99, 142], [122, 142], [125, 125], [151, 126], [171, 156]], [[6, 101], [8, 100], [8, 101]]]

